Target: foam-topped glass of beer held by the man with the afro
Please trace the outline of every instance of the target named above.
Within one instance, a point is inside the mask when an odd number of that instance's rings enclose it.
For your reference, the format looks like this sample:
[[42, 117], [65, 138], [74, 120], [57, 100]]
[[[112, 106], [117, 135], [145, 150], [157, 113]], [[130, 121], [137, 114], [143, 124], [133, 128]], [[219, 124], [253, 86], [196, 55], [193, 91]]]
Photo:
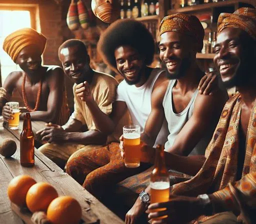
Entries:
[[124, 164], [128, 168], [140, 165], [140, 126], [129, 124], [122, 128], [124, 144]]

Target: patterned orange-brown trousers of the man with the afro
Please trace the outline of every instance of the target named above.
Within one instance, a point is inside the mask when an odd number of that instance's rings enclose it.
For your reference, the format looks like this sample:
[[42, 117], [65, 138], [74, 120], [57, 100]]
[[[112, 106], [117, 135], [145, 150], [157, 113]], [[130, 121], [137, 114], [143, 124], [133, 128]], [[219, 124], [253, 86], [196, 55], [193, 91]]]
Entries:
[[66, 172], [94, 196], [99, 197], [107, 187], [128, 176], [140, 173], [150, 164], [127, 168], [121, 157], [119, 143], [112, 142], [95, 150], [80, 149], [66, 163]]

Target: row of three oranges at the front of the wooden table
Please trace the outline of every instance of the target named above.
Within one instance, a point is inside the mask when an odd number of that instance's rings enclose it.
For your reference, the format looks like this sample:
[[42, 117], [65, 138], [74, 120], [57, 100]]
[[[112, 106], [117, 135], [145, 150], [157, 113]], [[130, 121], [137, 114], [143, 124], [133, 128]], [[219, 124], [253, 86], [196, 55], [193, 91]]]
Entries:
[[59, 196], [53, 186], [28, 176], [14, 177], [7, 189], [10, 201], [19, 207], [27, 206], [31, 212], [44, 211], [52, 224], [77, 224], [81, 219], [81, 206], [70, 196]]

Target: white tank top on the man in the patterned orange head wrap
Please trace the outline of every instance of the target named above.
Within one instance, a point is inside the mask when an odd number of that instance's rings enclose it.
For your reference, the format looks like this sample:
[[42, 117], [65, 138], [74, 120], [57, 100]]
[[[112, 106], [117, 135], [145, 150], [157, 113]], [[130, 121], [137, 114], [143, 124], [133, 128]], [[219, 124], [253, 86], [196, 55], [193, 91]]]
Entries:
[[[175, 113], [173, 111], [172, 106], [172, 88], [176, 80], [170, 80], [168, 87], [166, 89], [165, 95], [163, 97], [162, 106], [164, 108], [164, 114], [168, 123], [169, 135], [168, 141], [165, 143], [165, 148], [170, 148], [175, 140], [175, 137], [188, 121], [188, 119], [192, 116], [194, 110], [194, 101], [198, 93], [198, 89], [196, 89], [187, 104], [186, 108], [180, 113]], [[214, 131], [214, 125], [212, 127], [208, 127], [205, 131], [202, 139], [195, 145], [194, 149], [190, 152], [189, 155], [201, 154], [204, 155], [204, 151], [211, 139], [212, 133]]]

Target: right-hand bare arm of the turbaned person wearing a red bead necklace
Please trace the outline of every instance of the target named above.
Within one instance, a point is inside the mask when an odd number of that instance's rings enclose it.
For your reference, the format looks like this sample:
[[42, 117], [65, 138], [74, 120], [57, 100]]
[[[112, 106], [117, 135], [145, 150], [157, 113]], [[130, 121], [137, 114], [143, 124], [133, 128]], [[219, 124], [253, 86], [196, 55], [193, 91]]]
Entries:
[[63, 101], [64, 73], [60, 67], [55, 67], [48, 77], [49, 96], [46, 111], [30, 112], [31, 119], [43, 120], [45, 122], [56, 122]]

